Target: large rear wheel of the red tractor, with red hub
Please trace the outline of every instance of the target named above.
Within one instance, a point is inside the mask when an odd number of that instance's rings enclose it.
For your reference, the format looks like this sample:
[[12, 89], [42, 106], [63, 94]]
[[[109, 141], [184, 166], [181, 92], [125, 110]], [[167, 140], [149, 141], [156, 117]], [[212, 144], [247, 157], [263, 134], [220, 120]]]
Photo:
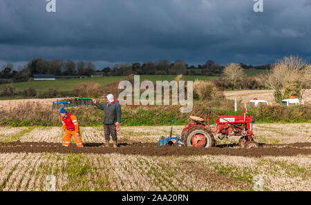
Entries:
[[194, 127], [182, 136], [185, 145], [193, 147], [212, 147], [215, 146], [215, 139], [211, 131], [202, 128]]

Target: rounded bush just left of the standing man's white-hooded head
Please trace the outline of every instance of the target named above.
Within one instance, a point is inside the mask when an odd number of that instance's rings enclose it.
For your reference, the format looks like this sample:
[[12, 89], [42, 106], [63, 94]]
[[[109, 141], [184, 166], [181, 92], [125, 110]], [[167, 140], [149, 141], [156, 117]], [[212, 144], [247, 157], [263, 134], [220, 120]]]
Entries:
[[75, 96], [77, 97], [100, 97], [100, 95], [102, 95], [100, 84], [82, 82], [75, 86]]

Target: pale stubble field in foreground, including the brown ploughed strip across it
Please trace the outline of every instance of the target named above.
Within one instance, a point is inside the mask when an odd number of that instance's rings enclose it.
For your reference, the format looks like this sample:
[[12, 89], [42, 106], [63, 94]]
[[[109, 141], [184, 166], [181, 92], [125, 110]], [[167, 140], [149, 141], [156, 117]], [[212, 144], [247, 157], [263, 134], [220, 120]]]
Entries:
[[[257, 150], [238, 138], [216, 148], [156, 146], [169, 126], [122, 127], [105, 148], [102, 127], [82, 127], [84, 148], [64, 148], [59, 127], [0, 128], [0, 190], [264, 191], [311, 190], [311, 125], [255, 124]], [[175, 126], [179, 134], [182, 126]]]

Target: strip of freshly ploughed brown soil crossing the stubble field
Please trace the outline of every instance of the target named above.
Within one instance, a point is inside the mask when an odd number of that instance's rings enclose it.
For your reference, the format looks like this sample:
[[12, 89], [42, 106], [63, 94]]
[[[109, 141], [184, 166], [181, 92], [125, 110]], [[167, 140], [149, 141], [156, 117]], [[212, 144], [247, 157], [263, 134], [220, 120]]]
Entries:
[[234, 155], [249, 157], [311, 155], [311, 143], [295, 143], [286, 145], [261, 144], [261, 147], [249, 150], [244, 148], [233, 148], [234, 146], [237, 147], [235, 144], [218, 145], [212, 148], [178, 146], [158, 147], [155, 143], [136, 142], [133, 144], [120, 143], [117, 148], [106, 148], [104, 147], [104, 144], [85, 143], [83, 148], [77, 148], [75, 144], [70, 144], [70, 146], [64, 147], [60, 143], [13, 141], [9, 143], [0, 143], [0, 153], [119, 153], [123, 155], [149, 156]]

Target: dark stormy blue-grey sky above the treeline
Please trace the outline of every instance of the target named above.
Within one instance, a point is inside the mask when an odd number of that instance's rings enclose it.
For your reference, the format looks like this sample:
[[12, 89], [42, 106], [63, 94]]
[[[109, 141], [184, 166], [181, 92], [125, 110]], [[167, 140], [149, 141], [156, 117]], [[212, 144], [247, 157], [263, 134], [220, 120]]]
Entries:
[[[46, 60], [311, 63], [311, 0], [0, 0], [0, 66]], [[1, 68], [0, 67], [0, 68]]]

